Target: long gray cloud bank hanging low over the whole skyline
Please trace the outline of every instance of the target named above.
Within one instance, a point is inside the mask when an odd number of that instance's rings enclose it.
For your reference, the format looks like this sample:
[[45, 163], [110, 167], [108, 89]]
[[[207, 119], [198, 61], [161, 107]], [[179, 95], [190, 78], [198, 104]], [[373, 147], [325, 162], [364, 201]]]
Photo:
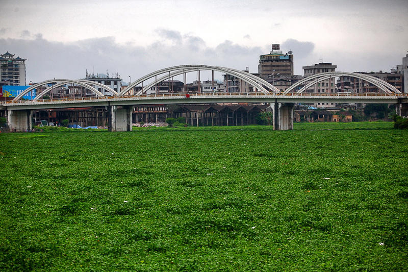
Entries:
[[[86, 69], [95, 73], [105, 73], [106, 70], [111, 74], [118, 72], [126, 81], [127, 75], [137, 79], [151, 71], [183, 64], [207, 64], [236, 69], [249, 66], [250, 72], [257, 72], [259, 56], [269, 52], [262, 47], [242, 46], [229, 40], [212, 47], [202, 38], [190, 34], [180, 37], [177, 32], [166, 32], [165, 35], [174, 37], [179, 42], [168, 44], [159, 40], [145, 46], [136, 46], [130, 43], [119, 44], [113, 37], [104, 37], [62, 43], [48, 41], [41, 34], [36, 34], [35, 39], [0, 38], [0, 53], [8, 50], [27, 59], [27, 81], [40, 82], [52, 78], [84, 78]], [[314, 52], [315, 45], [310, 41], [288, 39], [282, 43], [282, 48], [284, 51], [293, 51], [297, 74], [302, 73], [301, 66], [317, 63], [320, 57], [317, 55], [320, 53]], [[322, 57], [325, 61], [327, 59], [327, 62], [338, 65], [338, 70], [371, 71], [387, 70], [399, 64], [402, 53], [393, 52], [390, 55], [390, 52], [384, 52], [380, 55], [366, 52], [356, 56], [330, 52], [327, 55], [330, 59], [324, 54]]]

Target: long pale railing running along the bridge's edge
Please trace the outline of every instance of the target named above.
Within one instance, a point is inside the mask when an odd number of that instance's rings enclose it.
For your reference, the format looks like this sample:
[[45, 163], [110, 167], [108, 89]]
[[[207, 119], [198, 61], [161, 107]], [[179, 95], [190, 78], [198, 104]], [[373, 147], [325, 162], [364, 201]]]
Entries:
[[88, 96], [88, 97], [63, 97], [63, 98], [50, 98], [50, 99], [41, 99], [41, 100], [17, 100], [17, 101], [3, 101], [4, 105], [10, 104], [20, 104], [20, 103], [58, 103], [58, 102], [73, 102], [73, 101], [107, 101], [113, 99], [122, 99], [122, 98], [160, 98], [160, 97], [202, 97], [202, 96], [272, 96], [272, 97], [282, 97], [282, 96], [314, 96], [314, 97], [402, 97], [406, 96], [405, 93], [311, 93], [311, 92], [289, 92], [289, 93], [264, 93], [264, 92], [203, 92], [203, 93], [154, 93], [154, 94], [139, 94], [139, 95], [120, 95], [120, 96]]

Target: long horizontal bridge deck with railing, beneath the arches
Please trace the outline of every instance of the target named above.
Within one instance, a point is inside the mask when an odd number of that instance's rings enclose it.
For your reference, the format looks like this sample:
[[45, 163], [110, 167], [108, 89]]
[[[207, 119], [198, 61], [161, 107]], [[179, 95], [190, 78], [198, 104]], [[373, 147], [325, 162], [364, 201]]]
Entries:
[[172, 93], [121, 96], [92, 96], [47, 100], [4, 101], [8, 109], [49, 109], [142, 104], [192, 103], [386, 103], [396, 104], [398, 98], [407, 103], [405, 93]]

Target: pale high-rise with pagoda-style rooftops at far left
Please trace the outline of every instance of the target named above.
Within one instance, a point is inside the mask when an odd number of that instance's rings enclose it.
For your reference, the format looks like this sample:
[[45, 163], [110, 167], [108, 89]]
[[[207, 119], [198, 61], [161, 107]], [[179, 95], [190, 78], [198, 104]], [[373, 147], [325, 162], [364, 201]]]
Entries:
[[0, 55], [0, 86], [26, 85], [25, 59], [6, 52]]

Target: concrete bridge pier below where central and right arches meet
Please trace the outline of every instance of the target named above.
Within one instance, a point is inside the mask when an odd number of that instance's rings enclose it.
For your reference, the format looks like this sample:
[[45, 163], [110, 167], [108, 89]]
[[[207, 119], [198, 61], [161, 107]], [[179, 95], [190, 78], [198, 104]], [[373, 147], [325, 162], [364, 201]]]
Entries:
[[294, 103], [271, 103], [274, 130], [293, 130]]

